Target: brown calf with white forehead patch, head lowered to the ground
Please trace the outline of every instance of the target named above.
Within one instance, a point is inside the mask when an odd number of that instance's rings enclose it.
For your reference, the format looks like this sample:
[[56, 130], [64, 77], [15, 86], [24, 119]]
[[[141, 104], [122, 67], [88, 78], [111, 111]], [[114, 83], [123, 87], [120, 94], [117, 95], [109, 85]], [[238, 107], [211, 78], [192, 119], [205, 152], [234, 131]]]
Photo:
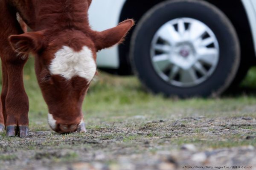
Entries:
[[[0, 132], [28, 135], [29, 100], [23, 67], [35, 55], [35, 72], [49, 109], [48, 122], [59, 133], [85, 132], [81, 105], [96, 73], [96, 52], [122, 41], [134, 25], [93, 31], [88, 22], [92, 0], [0, 0], [0, 57], [3, 88]], [[100, 11], [99, 11], [100, 13]], [[17, 14], [26, 26], [17, 21]]]

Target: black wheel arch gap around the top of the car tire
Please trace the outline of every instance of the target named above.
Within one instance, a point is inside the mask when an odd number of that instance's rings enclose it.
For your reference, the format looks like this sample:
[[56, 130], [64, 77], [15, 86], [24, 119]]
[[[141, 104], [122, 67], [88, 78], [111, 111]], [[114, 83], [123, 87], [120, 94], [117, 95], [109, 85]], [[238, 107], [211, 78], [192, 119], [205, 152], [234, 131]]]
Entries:
[[[140, 3], [134, 0], [126, 0], [122, 11], [120, 13], [119, 21], [125, 20], [127, 18], [133, 18], [136, 23], [138, 23], [150, 8], [154, 5], [163, 2], [165, 0], [140, 0]], [[245, 11], [244, 5], [241, 0], [233, 0], [232, 6], [230, 2], [221, 1], [221, 0], [204, 0], [215, 6], [217, 6], [227, 17], [230, 19], [231, 23], [235, 27], [237, 34], [239, 36], [239, 41], [241, 46], [241, 67], [244, 69], [249, 68], [256, 63], [256, 55], [254, 51], [253, 35], [250, 28], [250, 23]], [[234, 12], [235, 11], [235, 12]], [[134, 26], [134, 28], [136, 25]], [[134, 28], [130, 31], [126, 37], [125, 42], [122, 45], [119, 45], [119, 65], [121, 74], [131, 74], [131, 64], [129, 59], [129, 48], [131, 35], [134, 31]]]

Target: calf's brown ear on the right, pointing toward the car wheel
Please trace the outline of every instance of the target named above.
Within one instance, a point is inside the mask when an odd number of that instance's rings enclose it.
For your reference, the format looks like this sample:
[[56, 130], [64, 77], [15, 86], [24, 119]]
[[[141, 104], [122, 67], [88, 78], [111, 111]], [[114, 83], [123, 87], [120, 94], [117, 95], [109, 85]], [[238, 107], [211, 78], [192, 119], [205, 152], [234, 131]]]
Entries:
[[134, 20], [125, 20], [114, 28], [96, 32], [95, 45], [97, 50], [99, 51], [103, 48], [108, 48], [121, 43], [132, 26], [134, 26]]

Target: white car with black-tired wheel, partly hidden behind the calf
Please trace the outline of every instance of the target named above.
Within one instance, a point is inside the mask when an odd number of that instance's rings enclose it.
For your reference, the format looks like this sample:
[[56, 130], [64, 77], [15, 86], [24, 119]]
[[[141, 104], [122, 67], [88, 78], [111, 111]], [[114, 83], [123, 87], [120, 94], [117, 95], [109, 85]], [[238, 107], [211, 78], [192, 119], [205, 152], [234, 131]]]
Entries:
[[102, 70], [136, 74], [164, 96], [219, 96], [256, 65], [255, 0], [93, 0], [98, 31], [133, 18], [125, 42], [100, 51]]

